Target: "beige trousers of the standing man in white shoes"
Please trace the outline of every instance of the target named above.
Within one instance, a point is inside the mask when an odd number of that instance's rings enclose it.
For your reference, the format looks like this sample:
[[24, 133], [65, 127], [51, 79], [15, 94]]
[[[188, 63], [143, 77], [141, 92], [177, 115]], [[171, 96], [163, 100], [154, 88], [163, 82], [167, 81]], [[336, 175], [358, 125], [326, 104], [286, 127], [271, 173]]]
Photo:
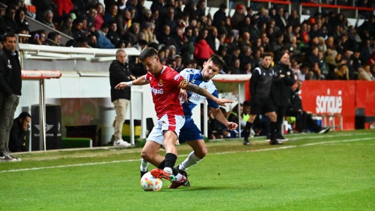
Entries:
[[126, 110], [129, 106], [129, 102], [128, 99], [116, 99], [113, 101], [116, 110], [115, 140], [122, 139], [122, 126], [125, 121]]

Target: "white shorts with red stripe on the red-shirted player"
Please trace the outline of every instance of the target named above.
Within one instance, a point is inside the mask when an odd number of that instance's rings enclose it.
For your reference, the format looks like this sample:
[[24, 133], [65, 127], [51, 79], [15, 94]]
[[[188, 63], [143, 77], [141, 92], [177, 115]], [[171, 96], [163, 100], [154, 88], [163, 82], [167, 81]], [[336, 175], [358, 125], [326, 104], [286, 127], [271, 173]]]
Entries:
[[181, 115], [164, 115], [162, 118], [158, 119], [154, 128], [152, 128], [151, 133], [148, 135], [148, 141], [156, 142], [163, 145], [163, 132], [166, 130], [174, 131], [177, 137], [180, 135], [180, 130], [185, 124], [185, 116]]

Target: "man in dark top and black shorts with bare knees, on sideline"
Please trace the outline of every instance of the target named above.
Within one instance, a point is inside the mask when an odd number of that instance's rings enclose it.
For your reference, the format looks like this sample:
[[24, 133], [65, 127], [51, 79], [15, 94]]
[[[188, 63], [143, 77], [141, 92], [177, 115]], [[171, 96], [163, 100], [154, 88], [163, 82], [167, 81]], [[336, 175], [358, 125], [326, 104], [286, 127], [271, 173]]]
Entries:
[[243, 145], [249, 145], [249, 135], [253, 126], [254, 120], [257, 115], [266, 113], [271, 121], [271, 140], [270, 144], [282, 144], [275, 137], [276, 132], [276, 109], [273, 100], [270, 98], [272, 80], [273, 80], [273, 69], [270, 67], [272, 62], [271, 54], [264, 54], [262, 66], [255, 68], [250, 79], [250, 93], [251, 93], [251, 109], [250, 117], [246, 122], [244, 131]]

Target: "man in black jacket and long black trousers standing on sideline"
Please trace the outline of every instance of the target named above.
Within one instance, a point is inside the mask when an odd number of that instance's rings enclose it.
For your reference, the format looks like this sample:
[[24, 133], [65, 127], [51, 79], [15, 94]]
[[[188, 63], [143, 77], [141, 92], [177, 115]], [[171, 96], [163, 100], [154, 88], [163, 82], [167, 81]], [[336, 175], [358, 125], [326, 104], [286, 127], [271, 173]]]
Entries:
[[272, 82], [271, 97], [277, 106], [276, 113], [278, 118], [276, 121], [276, 139], [279, 141], [288, 140], [281, 134], [281, 125], [284, 121], [285, 111], [288, 108], [290, 97], [292, 95], [291, 87], [296, 83], [293, 72], [289, 68], [289, 63], [289, 54], [285, 53], [280, 61], [273, 66], [275, 77]]

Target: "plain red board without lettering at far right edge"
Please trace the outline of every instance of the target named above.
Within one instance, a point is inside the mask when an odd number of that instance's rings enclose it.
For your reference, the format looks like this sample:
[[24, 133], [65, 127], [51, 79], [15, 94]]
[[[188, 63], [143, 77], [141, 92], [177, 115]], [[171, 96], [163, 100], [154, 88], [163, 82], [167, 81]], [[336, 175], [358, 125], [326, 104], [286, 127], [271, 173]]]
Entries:
[[365, 108], [366, 116], [375, 116], [375, 81], [356, 81], [356, 108]]

